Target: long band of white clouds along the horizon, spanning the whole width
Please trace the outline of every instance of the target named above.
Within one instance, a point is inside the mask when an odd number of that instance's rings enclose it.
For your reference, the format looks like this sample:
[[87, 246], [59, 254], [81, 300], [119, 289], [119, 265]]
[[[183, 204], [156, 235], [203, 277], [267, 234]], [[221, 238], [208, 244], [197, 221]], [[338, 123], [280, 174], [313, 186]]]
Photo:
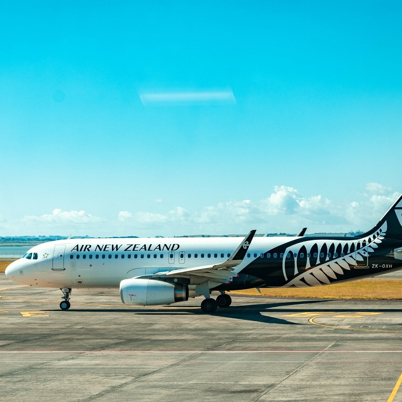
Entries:
[[374, 184], [368, 183], [367, 193], [356, 193], [358, 199], [349, 197], [345, 201], [331, 201], [320, 194], [305, 196], [293, 187], [282, 185], [275, 186], [274, 191], [261, 200], [229, 200], [193, 211], [182, 206], [166, 212], [120, 211], [109, 220], [86, 211], [61, 209], [21, 219], [6, 220], [0, 215], [0, 228], [4, 235], [73, 233], [92, 236], [241, 234], [253, 228], [259, 232], [296, 233], [306, 226], [308, 233], [369, 230], [399, 195], [388, 187]]

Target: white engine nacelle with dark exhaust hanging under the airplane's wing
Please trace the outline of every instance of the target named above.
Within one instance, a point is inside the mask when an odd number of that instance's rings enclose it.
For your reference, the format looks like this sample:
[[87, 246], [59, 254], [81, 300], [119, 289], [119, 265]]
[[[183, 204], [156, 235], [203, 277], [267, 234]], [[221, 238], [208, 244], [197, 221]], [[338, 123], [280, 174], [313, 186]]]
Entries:
[[123, 279], [120, 297], [124, 304], [152, 306], [189, 299], [189, 287], [155, 279]]

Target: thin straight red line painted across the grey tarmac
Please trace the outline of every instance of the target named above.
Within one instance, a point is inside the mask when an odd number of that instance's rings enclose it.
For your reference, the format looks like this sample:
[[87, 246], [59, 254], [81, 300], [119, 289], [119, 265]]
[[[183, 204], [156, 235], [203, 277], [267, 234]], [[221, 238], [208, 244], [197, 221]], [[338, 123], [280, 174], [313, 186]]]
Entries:
[[0, 351], [0, 353], [402, 353], [396, 351]]

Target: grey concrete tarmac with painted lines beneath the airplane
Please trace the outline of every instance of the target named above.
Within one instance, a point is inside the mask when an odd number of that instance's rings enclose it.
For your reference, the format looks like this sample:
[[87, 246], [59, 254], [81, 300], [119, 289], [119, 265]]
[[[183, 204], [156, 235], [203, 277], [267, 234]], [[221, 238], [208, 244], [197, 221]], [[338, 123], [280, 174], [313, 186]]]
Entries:
[[402, 401], [402, 300], [61, 296], [0, 275], [1, 401]]

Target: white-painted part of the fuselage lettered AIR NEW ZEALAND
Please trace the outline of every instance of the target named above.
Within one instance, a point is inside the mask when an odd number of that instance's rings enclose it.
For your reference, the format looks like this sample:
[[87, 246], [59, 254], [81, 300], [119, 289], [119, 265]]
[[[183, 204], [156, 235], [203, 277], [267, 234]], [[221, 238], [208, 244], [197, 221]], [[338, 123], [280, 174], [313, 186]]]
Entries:
[[[8, 266], [6, 275], [18, 283], [38, 287], [119, 287], [127, 278], [223, 263], [240, 240], [239, 237], [57, 240], [31, 248], [27, 252], [32, 254], [31, 258], [16, 260]], [[234, 276], [281, 243], [281, 237], [254, 238], [243, 262], [235, 267]], [[35, 254], [37, 259], [33, 259]]]

